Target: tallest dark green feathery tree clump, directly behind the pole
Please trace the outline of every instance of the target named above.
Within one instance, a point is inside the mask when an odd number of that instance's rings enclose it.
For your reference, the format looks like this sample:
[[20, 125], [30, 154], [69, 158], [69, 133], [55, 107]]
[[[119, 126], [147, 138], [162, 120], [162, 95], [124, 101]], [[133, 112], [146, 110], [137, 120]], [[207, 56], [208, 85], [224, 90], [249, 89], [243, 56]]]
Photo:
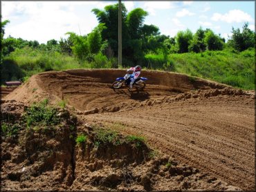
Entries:
[[[104, 10], [93, 9], [100, 24], [106, 28], [102, 30], [102, 41], [107, 42], [108, 50], [113, 50], [113, 55], [118, 55], [118, 3], [104, 7]], [[134, 64], [142, 61], [148, 37], [159, 34], [156, 26], [144, 25], [148, 13], [136, 8], [127, 15], [125, 5], [122, 3], [122, 57]]]

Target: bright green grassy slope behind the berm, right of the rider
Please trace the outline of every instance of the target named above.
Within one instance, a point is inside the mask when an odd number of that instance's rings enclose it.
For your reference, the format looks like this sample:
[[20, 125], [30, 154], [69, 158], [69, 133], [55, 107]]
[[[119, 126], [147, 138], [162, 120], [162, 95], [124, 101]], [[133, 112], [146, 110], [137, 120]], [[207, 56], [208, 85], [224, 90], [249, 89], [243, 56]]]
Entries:
[[[246, 90], [255, 88], [255, 49], [171, 54], [166, 61], [162, 55], [146, 55], [146, 58], [151, 63], [161, 61], [156, 69], [210, 79]], [[170, 68], [166, 68], [167, 64]]]

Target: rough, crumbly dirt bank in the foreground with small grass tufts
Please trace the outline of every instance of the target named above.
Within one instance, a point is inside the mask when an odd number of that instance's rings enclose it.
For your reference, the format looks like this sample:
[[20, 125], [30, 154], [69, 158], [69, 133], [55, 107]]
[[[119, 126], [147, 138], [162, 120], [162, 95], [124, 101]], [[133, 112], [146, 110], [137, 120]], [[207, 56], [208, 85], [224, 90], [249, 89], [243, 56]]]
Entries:
[[[56, 126], [26, 127], [28, 108], [3, 104], [2, 123], [19, 125], [19, 132], [2, 135], [3, 190], [239, 190], [152, 151], [139, 137], [84, 126], [63, 109], [57, 111], [61, 121]], [[75, 143], [78, 135], [86, 140]]]

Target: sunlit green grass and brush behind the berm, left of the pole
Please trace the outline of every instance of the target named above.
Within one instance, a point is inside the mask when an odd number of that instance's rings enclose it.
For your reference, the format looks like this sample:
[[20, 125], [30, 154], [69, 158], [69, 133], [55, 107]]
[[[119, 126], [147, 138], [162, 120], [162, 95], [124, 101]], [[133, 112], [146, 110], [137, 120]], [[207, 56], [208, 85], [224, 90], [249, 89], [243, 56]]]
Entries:
[[74, 57], [62, 55], [60, 52], [16, 48], [3, 58], [1, 64], [1, 84], [5, 81], [19, 80], [48, 70], [67, 70], [73, 68], [89, 68], [88, 61], [80, 64]]

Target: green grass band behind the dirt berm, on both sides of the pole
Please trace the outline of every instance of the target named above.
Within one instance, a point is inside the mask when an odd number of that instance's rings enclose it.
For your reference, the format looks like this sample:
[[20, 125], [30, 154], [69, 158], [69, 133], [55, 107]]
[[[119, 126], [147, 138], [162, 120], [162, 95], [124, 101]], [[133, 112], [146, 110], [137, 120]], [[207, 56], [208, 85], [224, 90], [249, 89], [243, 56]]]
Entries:
[[[132, 66], [123, 58], [123, 66]], [[48, 70], [67, 70], [75, 68], [116, 68], [118, 60], [108, 59], [98, 53], [93, 61], [78, 61], [75, 57], [60, 52], [36, 50], [33, 48], [16, 49], [1, 64], [1, 84], [8, 80]], [[210, 79], [237, 88], [253, 90], [255, 88], [255, 48], [237, 52], [234, 50], [205, 51], [201, 53], [183, 53], [145, 55], [143, 68], [184, 73], [191, 76]]]

